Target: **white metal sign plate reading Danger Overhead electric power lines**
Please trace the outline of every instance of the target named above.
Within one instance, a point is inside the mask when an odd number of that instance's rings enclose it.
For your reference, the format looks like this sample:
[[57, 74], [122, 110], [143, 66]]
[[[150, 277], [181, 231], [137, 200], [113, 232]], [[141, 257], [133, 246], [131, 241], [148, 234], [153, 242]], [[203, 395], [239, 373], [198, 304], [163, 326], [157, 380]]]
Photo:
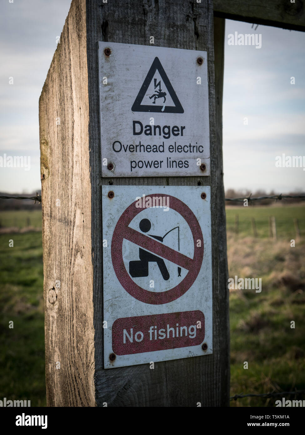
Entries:
[[103, 177], [210, 175], [205, 51], [99, 42]]

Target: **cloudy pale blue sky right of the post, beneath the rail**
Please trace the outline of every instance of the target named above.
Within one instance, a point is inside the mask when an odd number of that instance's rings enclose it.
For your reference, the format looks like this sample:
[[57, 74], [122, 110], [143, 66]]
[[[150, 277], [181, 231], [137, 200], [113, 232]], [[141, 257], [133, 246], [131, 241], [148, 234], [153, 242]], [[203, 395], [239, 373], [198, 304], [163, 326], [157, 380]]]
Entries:
[[[223, 97], [225, 188], [287, 192], [305, 187], [303, 168], [275, 167], [305, 156], [305, 33], [226, 21]], [[261, 48], [228, 45], [228, 35], [261, 33]], [[290, 83], [295, 77], [295, 84]], [[248, 117], [248, 125], [244, 118]], [[305, 158], [304, 158], [305, 166]]]

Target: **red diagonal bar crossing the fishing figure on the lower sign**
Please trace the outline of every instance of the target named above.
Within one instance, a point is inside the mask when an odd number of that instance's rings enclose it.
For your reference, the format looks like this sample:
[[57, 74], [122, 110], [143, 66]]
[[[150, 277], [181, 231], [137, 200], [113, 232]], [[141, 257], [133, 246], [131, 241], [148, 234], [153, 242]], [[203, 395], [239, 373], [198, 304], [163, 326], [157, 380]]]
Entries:
[[178, 264], [178, 266], [181, 268], [190, 270], [193, 266], [192, 258], [189, 258], [186, 255], [183, 255], [180, 252], [175, 251], [174, 249], [171, 249], [168, 246], [139, 233], [139, 231], [136, 231], [133, 228], [125, 228], [125, 231], [122, 235], [126, 240], [141, 246], [143, 249], [147, 249], [147, 251], [150, 251], [153, 254], [159, 255], [159, 257], [163, 257], [172, 263]]

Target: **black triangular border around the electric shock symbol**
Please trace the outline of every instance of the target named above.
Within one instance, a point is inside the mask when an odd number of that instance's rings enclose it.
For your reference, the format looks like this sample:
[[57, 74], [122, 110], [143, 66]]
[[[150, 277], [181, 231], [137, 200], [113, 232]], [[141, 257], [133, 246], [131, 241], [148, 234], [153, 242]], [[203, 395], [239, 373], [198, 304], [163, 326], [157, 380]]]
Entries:
[[[174, 106], [167, 106], [164, 107], [164, 110], [162, 111], [163, 106], [148, 106], [146, 104], [141, 105], [141, 102], [144, 98], [144, 95], [151, 84], [151, 80], [154, 77], [154, 74], [156, 71], [159, 71], [159, 74], [161, 76], [161, 79], [163, 80], [171, 99], [174, 102]], [[151, 64], [151, 67], [149, 68], [149, 71], [147, 73], [147, 76], [145, 77], [145, 80], [141, 86], [141, 89], [139, 90], [139, 93], [137, 94], [137, 98], [134, 100], [134, 104], [131, 107], [131, 110], [133, 112], [157, 112], [157, 113], [184, 113], [184, 109], [181, 106], [181, 103], [174, 91], [174, 88], [171, 85], [171, 82], [169, 81], [168, 76], [166, 75], [166, 72], [164, 71], [164, 68], [161, 65], [160, 60], [158, 57], [154, 58], [153, 63]]]

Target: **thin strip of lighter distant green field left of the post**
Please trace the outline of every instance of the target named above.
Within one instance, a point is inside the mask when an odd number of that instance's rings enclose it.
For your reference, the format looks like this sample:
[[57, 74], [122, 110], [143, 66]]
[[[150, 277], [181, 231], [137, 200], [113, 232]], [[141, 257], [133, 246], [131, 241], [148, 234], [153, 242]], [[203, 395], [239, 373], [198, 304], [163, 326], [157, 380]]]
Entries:
[[41, 228], [41, 210], [9, 210], [0, 212], [0, 227]]

